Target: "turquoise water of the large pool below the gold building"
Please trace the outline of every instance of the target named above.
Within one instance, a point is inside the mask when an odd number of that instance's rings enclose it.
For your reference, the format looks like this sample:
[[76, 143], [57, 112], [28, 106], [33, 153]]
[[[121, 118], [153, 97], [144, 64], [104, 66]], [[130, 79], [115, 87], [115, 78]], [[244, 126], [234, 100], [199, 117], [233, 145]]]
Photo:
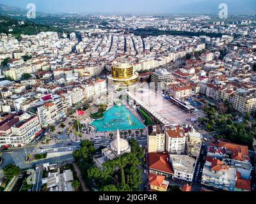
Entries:
[[144, 124], [136, 119], [125, 106], [113, 106], [104, 113], [104, 119], [94, 120], [92, 126], [97, 128], [97, 132], [145, 129]]

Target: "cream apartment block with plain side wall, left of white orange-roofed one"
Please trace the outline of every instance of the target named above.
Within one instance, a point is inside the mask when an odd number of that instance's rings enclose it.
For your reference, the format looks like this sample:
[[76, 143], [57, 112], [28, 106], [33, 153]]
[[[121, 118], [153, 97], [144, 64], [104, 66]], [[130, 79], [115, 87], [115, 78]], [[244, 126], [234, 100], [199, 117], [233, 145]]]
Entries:
[[165, 132], [163, 126], [148, 126], [148, 152], [164, 152]]

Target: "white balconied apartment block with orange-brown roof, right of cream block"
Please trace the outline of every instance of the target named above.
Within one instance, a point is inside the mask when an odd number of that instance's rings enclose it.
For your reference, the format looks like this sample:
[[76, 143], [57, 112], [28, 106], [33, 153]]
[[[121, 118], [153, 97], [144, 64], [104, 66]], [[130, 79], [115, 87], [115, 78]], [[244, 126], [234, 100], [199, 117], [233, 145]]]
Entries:
[[184, 154], [186, 146], [186, 135], [184, 129], [177, 127], [166, 127], [165, 149], [170, 154]]

